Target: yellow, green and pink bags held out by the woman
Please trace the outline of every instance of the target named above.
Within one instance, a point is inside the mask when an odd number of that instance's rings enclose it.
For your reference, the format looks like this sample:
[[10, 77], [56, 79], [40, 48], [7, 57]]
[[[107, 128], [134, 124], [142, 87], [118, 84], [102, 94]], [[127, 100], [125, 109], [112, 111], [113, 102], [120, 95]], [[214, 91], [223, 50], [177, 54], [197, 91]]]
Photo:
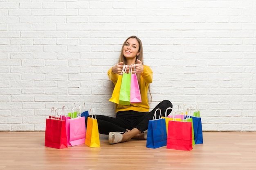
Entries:
[[[120, 105], [130, 105], [130, 103], [141, 102], [137, 75], [131, 73], [133, 67], [135, 71], [135, 64], [123, 66], [123, 70], [121, 75], [118, 76], [112, 97], [109, 99], [109, 101]], [[128, 69], [129, 73], [126, 73], [126, 70]]]

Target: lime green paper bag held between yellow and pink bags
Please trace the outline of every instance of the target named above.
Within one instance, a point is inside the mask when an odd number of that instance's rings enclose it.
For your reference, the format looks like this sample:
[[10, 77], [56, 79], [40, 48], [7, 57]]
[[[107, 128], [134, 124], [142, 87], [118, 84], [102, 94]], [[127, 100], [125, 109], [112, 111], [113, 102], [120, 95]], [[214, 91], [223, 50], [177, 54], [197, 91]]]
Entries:
[[[127, 68], [128, 65], [126, 65], [126, 69]], [[130, 105], [131, 73], [126, 73], [126, 69], [121, 82], [119, 105]]]

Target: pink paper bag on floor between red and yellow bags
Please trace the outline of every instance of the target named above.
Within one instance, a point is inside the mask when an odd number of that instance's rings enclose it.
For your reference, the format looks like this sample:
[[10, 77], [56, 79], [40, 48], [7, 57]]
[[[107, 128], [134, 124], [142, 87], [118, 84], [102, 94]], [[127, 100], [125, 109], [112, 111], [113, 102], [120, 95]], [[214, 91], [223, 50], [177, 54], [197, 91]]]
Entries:
[[[77, 110], [79, 112], [78, 108], [73, 108], [72, 113]], [[85, 117], [77, 117], [77, 118], [71, 118], [67, 120], [69, 122], [68, 127], [68, 133], [69, 137], [67, 137], [67, 146], [76, 146], [80, 144], [85, 143]]]

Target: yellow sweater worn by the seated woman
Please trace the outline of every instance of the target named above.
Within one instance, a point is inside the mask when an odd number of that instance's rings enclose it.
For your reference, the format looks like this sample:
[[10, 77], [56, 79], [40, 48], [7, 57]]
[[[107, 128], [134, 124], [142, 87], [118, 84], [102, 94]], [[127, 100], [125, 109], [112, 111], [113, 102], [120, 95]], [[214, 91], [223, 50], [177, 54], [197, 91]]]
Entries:
[[[151, 68], [147, 65], [144, 66], [144, 71], [140, 74], [140, 94], [141, 94], [141, 102], [139, 103], [130, 103], [130, 106], [127, 105], [119, 105], [116, 104], [116, 113], [118, 111], [140, 111], [140, 112], [148, 112], [148, 86], [153, 81], [153, 72]], [[112, 68], [108, 70], [109, 79], [116, 85], [119, 74], [115, 74], [112, 72]]]

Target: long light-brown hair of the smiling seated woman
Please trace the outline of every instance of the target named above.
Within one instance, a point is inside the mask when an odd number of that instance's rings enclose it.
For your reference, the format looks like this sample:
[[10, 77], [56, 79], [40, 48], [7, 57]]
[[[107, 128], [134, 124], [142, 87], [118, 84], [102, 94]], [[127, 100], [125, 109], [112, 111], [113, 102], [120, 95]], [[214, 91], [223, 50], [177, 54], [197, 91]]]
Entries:
[[[135, 60], [135, 64], [137, 64], [137, 59], [140, 60], [143, 64], [143, 48], [142, 48], [142, 42], [141, 40], [136, 37], [135, 35], [132, 35], [130, 37], [128, 37], [125, 41], [124, 41], [124, 44], [122, 46], [122, 49], [121, 49], [121, 53], [120, 53], [120, 56], [119, 56], [119, 63], [120, 62], [124, 62], [124, 65], [127, 64], [127, 61], [126, 61], [126, 58], [124, 57], [124, 52], [123, 52], [123, 49], [124, 49], [124, 46], [126, 44], [126, 42], [128, 41], [128, 39], [130, 38], [134, 38], [138, 41], [139, 43], [139, 55], [136, 57], [136, 60]], [[138, 79], [138, 83], [139, 83], [139, 88], [140, 88], [140, 74], [136, 74], [137, 75], [137, 79]], [[152, 95], [151, 95], [151, 92], [150, 92], [150, 87], [148, 85], [148, 92], [150, 94], [150, 102], [152, 102]]]

